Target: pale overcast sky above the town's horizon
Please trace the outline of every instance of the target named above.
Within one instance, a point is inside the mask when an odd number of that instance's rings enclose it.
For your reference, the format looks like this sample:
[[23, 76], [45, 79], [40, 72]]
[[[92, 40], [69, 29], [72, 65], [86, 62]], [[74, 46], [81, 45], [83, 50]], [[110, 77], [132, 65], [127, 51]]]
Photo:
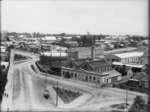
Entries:
[[4, 0], [2, 30], [148, 35], [148, 0]]

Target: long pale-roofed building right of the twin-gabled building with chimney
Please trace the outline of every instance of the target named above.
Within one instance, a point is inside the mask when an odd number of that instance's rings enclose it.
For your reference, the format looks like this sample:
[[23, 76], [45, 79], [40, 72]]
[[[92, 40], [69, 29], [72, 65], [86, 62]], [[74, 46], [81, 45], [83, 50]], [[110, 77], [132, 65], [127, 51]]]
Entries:
[[[145, 53], [141, 51], [111, 54], [106, 56], [106, 60], [109, 64], [111, 64], [114, 69], [122, 73], [123, 76], [128, 75], [128, 72], [130, 72], [130, 75], [128, 76], [132, 76], [131, 71], [134, 73], [142, 72], [145, 67], [143, 62], [144, 58]], [[124, 66], [125, 68], [123, 68]]]

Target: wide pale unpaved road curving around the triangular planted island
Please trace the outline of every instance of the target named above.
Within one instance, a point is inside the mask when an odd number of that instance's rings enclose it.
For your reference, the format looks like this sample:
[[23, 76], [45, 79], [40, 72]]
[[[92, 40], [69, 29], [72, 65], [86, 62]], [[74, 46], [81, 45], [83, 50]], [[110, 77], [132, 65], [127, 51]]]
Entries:
[[[32, 59], [15, 64], [13, 63], [15, 53], [30, 56]], [[78, 89], [92, 95], [90, 99], [87, 99], [77, 107], [72, 108], [71, 105], [70, 107], [68, 106], [68, 108], [56, 107], [52, 99], [46, 100], [43, 97], [45, 76], [41, 75], [37, 69], [36, 73], [31, 68], [31, 65], [35, 66], [36, 60], [38, 60], [38, 56], [34, 54], [26, 52], [22, 53], [21, 51], [11, 52], [11, 64], [7, 77], [8, 82], [5, 87], [8, 98], [3, 97], [1, 105], [3, 111], [92, 111], [104, 109], [104, 107], [109, 107], [112, 104], [125, 103], [126, 90], [110, 87], [93, 87], [90, 84], [87, 85], [80, 81], [73, 81], [49, 75], [49, 77], [47, 77], [48, 85], [55, 85], [58, 81], [59, 86]], [[128, 102], [132, 103], [136, 95], [141, 95], [144, 99], [148, 99], [148, 95], [146, 94], [128, 91]], [[80, 102], [81, 101], [77, 101], [77, 103]]]

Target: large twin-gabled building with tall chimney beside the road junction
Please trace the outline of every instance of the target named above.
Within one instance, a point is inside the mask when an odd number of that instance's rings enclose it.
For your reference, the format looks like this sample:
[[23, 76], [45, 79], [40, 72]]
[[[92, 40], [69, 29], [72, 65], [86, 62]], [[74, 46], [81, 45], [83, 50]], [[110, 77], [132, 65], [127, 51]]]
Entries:
[[96, 60], [94, 47], [91, 49], [92, 58], [70, 58], [64, 63], [61, 67], [61, 77], [90, 82], [100, 86], [121, 80], [122, 75], [112, 69], [104, 58]]

